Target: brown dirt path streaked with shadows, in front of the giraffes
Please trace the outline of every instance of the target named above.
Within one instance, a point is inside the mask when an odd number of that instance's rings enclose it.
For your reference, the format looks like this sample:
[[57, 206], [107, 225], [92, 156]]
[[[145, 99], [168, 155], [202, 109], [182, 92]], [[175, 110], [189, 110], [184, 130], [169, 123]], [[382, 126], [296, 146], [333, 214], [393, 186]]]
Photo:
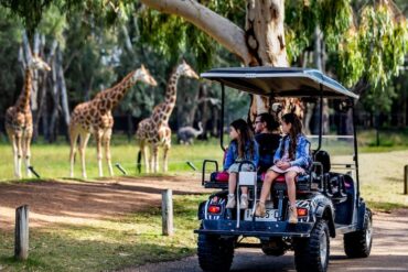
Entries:
[[15, 208], [30, 205], [30, 227], [60, 222], [86, 224], [159, 206], [161, 192], [174, 195], [205, 192], [198, 175], [118, 177], [92, 182], [0, 184], [0, 227], [13, 228]]

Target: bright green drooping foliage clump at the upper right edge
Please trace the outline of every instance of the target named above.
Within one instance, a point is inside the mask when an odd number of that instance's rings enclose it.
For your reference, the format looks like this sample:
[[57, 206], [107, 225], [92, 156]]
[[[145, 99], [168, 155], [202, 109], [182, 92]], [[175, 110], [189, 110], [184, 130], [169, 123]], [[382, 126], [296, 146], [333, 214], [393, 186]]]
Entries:
[[397, 95], [389, 83], [404, 65], [407, 45], [406, 19], [386, 4], [363, 7], [359, 25], [350, 29], [339, 44], [339, 77], [348, 87], [367, 78], [372, 88], [363, 98], [369, 111], [389, 111]]

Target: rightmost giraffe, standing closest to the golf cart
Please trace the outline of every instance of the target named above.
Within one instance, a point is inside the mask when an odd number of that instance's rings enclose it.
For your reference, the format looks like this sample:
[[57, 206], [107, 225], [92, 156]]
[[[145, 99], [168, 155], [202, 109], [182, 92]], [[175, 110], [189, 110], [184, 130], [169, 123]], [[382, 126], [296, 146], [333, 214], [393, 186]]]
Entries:
[[[168, 171], [168, 153], [171, 148], [171, 130], [169, 119], [175, 106], [176, 87], [180, 76], [198, 78], [197, 74], [183, 61], [179, 64], [170, 76], [165, 90], [164, 102], [154, 107], [151, 117], [143, 119], [138, 124], [136, 138], [139, 141], [138, 165], [140, 165], [141, 156], [144, 159], [146, 172], [159, 171], [159, 146], [163, 146], [163, 172]], [[150, 163], [148, 162], [146, 145], [150, 149]]]

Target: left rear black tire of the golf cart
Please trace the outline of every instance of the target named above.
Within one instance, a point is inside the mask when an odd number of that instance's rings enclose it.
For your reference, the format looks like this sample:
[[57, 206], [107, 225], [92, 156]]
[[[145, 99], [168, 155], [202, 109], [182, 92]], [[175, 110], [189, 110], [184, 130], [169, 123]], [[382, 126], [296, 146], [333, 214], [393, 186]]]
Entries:
[[234, 259], [234, 240], [198, 235], [198, 263], [203, 271], [229, 271]]

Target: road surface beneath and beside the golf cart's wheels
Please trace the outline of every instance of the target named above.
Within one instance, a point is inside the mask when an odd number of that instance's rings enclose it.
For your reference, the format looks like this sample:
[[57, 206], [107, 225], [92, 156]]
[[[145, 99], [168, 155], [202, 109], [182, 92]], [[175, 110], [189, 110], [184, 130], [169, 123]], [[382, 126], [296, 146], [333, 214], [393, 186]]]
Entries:
[[[343, 238], [331, 241], [330, 272], [343, 271], [408, 271], [408, 210], [374, 215], [374, 240], [372, 254], [365, 259], [347, 259]], [[196, 257], [180, 261], [150, 263], [122, 272], [200, 272]], [[238, 249], [232, 271], [296, 271], [293, 252], [283, 257], [267, 257], [259, 249]]]

